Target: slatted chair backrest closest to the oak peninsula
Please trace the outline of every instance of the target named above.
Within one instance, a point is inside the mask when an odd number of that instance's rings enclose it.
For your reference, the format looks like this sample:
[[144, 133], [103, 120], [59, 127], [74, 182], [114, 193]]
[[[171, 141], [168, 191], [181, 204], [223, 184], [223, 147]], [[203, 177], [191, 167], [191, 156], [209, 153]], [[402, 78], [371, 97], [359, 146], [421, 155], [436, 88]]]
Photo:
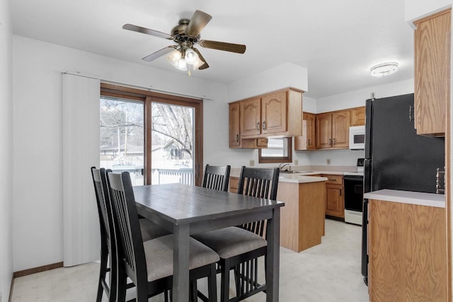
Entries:
[[[277, 199], [279, 175], [279, 168], [265, 169], [242, 166], [239, 175], [238, 194], [275, 200]], [[267, 220], [254, 221], [239, 227], [265, 237], [267, 223]]]

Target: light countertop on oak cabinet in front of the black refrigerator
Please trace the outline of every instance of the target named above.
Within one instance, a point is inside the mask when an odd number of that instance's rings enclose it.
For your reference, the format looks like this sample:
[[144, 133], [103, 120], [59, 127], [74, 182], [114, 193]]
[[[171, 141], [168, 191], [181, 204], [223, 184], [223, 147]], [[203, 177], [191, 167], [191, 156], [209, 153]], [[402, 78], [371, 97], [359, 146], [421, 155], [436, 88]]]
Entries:
[[445, 195], [442, 194], [385, 189], [365, 193], [363, 197], [385, 202], [401, 202], [404, 204], [445, 208]]

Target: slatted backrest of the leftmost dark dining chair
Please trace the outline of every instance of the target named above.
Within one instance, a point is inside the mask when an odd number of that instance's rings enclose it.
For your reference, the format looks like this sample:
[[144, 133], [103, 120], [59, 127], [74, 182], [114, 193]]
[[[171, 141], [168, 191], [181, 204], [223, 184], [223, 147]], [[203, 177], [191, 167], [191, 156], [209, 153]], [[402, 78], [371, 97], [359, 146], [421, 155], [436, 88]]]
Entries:
[[91, 167], [91, 176], [93, 178], [96, 203], [98, 205], [99, 224], [101, 226], [101, 240], [103, 240], [103, 236], [105, 236], [106, 239], [111, 240], [113, 236], [115, 236], [115, 233], [105, 173], [104, 168], [96, 169], [96, 167]]

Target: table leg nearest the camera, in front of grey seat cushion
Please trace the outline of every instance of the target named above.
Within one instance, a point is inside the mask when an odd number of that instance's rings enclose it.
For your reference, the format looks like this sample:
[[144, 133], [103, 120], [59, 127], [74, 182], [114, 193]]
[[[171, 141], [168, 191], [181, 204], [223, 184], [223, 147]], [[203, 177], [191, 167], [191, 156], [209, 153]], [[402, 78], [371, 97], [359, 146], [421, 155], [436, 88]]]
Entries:
[[189, 226], [173, 228], [173, 301], [187, 302], [189, 296]]

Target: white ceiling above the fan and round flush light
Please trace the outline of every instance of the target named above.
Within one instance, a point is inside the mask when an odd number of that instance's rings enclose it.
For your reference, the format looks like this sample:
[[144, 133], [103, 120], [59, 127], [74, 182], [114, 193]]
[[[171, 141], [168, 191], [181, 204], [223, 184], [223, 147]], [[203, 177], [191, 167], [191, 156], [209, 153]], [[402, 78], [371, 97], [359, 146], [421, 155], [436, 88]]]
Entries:
[[[198, 47], [209, 69], [192, 76], [231, 83], [285, 62], [304, 66], [311, 98], [413, 78], [413, 30], [404, 0], [10, 0], [13, 33], [175, 73], [165, 57], [142, 57], [172, 41], [123, 30], [170, 33], [195, 9], [212, 16], [201, 39], [245, 44], [245, 54]], [[369, 68], [398, 62], [381, 79]]]

